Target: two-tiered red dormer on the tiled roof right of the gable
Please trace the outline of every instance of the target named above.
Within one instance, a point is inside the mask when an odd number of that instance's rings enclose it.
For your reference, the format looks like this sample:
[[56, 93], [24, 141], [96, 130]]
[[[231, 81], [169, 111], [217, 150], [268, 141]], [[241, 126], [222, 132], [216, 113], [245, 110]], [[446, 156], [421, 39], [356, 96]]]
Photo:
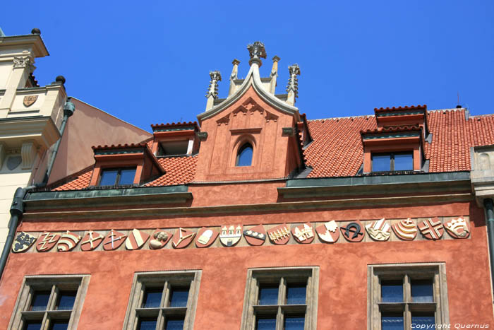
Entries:
[[427, 106], [375, 109], [377, 129], [361, 131], [363, 173], [427, 172]]

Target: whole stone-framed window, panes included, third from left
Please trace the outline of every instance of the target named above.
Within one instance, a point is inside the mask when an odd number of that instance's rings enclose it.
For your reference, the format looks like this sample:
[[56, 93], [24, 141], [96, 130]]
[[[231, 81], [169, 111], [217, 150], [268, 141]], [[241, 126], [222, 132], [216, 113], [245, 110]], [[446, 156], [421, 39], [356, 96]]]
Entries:
[[249, 269], [242, 330], [315, 330], [319, 267]]

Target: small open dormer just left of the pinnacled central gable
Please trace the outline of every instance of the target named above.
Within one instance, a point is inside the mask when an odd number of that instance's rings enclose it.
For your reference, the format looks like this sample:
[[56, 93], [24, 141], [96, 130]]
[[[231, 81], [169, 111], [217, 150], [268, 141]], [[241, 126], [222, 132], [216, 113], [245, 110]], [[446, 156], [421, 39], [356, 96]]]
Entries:
[[157, 157], [195, 155], [199, 150], [200, 135], [196, 122], [151, 125], [152, 153]]

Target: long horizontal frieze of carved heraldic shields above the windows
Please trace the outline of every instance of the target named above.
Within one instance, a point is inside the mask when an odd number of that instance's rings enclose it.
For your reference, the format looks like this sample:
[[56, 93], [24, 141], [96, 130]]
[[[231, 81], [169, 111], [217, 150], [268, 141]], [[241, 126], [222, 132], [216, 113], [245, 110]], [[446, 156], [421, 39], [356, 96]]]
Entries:
[[[444, 235], [445, 228], [449, 235]], [[340, 231], [345, 240], [338, 240]], [[421, 232], [420, 237], [417, 237], [418, 231]], [[457, 240], [468, 239], [470, 236], [469, 218], [464, 216], [397, 220], [381, 218], [379, 220], [330, 220], [320, 223], [282, 223], [248, 226], [228, 224], [220, 227], [154, 230], [134, 228], [132, 230], [118, 231], [114, 229], [98, 230], [98, 232], [94, 230], [85, 230], [83, 232], [18, 232], [12, 244], [12, 251], [16, 253], [131, 251], [137, 249], [341, 244], [347, 242], [385, 244], [381, 242]], [[81, 239], [80, 237], [83, 238]], [[219, 240], [217, 240], [218, 237]], [[266, 240], [266, 237], [269, 237], [269, 241]], [[36, 248], [33, 247], [35, 241], [37, 241]], [[168, 244], [170, 241], [171, 244]], [[124, 242], [125, 244], [123, 244]], [[192, 242], [194, 244], [191, 244]], [[53, 249], [55, 246], [56, 249]]]

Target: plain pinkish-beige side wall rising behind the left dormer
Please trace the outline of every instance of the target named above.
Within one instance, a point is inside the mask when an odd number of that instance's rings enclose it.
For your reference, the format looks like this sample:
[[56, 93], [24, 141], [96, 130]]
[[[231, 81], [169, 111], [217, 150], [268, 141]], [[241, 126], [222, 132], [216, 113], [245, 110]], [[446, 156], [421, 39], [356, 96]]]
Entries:
[[48, 183], [56, 182], [95, 163], [92, 146], [140, 143], [152, 134], [96, 107], [72, 99], [76, 111], [68, 119]]

